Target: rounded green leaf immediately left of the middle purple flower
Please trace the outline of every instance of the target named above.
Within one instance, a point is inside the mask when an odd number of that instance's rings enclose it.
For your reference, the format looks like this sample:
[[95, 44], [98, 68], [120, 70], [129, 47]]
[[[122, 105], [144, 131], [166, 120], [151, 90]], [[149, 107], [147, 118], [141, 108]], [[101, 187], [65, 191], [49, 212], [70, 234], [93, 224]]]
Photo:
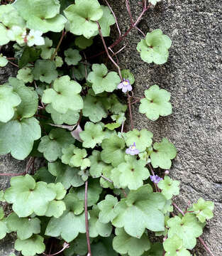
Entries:
[[112, 135], [109, 139], [104, 139], [101, 144], [101, 159], [106, 164], [112, 164], [113, 167], [118, 166], [121, 162], [125, 161], [124, 157], [126, 155], [125, 142], [123, 139], [117, 135]]

